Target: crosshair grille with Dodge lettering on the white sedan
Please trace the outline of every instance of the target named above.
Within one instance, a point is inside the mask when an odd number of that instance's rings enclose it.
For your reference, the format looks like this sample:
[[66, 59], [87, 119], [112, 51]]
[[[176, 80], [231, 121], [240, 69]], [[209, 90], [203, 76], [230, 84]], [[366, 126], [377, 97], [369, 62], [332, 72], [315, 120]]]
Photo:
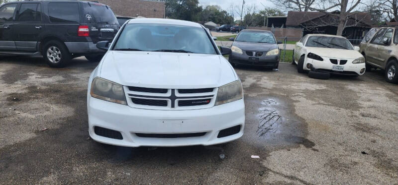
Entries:
[[[156, 110], [203, 109], [214, 105], [216, 88], [154, 89], [128, 87], [130, 107]], [[131, 100], [131, 101], [130, 101]]]

